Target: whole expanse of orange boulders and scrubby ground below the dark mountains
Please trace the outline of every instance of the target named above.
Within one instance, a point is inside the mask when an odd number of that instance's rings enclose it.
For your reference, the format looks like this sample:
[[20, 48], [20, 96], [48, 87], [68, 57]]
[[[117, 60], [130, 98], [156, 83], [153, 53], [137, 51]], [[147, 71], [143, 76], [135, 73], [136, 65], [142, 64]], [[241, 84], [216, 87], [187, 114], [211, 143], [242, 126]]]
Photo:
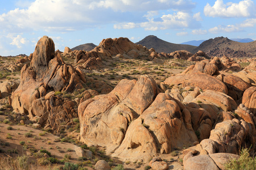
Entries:
[[0, 84], [0, 169], [225, 169], [255, 153], [256, 58], [189, 62], [123, 37], [66, 49], [43, 36], [30, 57], [0, 58], [23, 65]]

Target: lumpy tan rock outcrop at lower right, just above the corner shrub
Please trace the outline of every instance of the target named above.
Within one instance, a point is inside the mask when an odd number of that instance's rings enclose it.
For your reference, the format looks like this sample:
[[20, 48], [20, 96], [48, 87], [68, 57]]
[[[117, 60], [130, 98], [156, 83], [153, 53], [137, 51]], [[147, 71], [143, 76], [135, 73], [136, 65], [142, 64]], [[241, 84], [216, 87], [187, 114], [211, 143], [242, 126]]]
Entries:
[[[225, 120], [216, 124], [210, 131], [209, 139], [204, 139], [197, 145], [197, 150], [205, 150], [207, 154], [228, 152], [239, 154], [240, 147], [254, 148], [254, 138], [251, 135], [249, 124], [243, 120]], [[204, 152], [205, 152], [204, 151]]]

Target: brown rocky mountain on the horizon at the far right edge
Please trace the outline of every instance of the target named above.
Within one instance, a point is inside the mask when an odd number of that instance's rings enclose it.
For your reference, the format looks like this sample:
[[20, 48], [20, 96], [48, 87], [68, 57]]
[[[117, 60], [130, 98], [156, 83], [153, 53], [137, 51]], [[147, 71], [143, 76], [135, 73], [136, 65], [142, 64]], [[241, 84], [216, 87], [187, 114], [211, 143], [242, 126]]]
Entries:
[[253, 42], [237, 42], [229, 40], [227, 37], [216, 37], [202, 42], [192, 53], [202, 50], [209, 56], [221, 56], [223, 54], [228, 57], [256, 57], [256, 41]]

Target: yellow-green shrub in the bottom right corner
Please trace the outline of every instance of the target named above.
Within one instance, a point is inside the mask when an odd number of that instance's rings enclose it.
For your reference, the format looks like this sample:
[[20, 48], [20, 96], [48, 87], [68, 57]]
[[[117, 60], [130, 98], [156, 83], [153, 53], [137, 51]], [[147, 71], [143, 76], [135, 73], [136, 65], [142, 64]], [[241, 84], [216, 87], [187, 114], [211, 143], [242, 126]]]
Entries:
[[238, 160], [229, 160], [229, 162], [225, 164], [225, 169], [256, 169], [256, 158], [252, 158], [249, 154], [249, 149], [244, 148], [240, 152], [240, 158]]

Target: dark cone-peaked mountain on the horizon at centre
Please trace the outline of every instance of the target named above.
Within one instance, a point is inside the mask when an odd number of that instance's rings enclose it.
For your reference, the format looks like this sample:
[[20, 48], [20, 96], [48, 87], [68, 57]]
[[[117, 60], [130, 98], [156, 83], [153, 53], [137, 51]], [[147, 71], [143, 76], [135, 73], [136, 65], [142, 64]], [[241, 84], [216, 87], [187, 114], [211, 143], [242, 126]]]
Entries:
[[135, 44], [141, 44], [143, 46], [146, 46], [148, 49], [154, 48], [158, 53], [171, 53], [175, 52], [176, 50], [188, 50], [189, 52], [192, 52], [193, 49], [196, 48], [196, 46], [192, 45], [174, 44], [171, 42], [167, 42], [153, 35], [147, 36], [143, 40], [136, 42]]

